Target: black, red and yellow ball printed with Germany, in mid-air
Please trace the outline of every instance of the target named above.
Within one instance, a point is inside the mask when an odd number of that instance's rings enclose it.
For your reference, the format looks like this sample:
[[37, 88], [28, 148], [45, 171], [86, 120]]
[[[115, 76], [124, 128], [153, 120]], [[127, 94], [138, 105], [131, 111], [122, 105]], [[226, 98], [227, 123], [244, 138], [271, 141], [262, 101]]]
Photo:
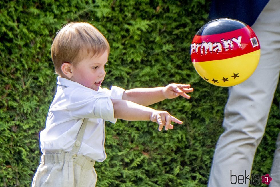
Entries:
[[234, 86], [249, 78], [259, 63], [255, 32], [236, 19], [215, 19], [203, 25], [191, 44], [197, 73], [215, 86]]

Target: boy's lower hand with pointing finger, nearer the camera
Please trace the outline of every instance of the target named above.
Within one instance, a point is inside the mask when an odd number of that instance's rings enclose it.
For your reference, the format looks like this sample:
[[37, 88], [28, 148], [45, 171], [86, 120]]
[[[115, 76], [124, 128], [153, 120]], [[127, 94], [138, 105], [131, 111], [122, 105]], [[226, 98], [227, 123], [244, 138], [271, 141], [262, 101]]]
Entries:
[[154, 111], [151, 116], [150, 120], [153, 122], [157, 122], [159, 124], [159, 131], [162, 130], [163, 126], [165, 126], [165, 130], [173, 129], [172, 122], [182, 124], [183, 121], [180, 121], [179, 119], [175, 118], [174, 116], [170, 115], [167, 111]]

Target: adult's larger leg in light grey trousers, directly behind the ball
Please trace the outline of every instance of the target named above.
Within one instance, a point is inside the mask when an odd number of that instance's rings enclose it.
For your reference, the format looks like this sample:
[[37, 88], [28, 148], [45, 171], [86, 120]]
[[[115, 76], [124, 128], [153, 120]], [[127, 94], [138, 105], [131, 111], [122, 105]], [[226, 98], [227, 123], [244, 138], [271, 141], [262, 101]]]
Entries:
[[[253, 159], [279, 80], [279, 7], [280, 1], [269, 1], [252, 26], [261, 45], [260, 62], [248, 80], [229, 88], [223, 121], [225, 131], [216, 145], [209, 187], [249, 186]], [[238, 180], [238, 175], [243, 175], [243, 180]]]

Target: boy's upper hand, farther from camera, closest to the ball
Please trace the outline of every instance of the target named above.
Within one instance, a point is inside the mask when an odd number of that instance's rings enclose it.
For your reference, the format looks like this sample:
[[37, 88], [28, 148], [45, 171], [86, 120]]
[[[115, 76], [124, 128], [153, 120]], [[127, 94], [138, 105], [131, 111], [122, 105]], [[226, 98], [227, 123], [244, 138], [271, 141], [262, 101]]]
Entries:
[[162, 91], [164, 97], [166, 97], [167, 99], [173, 99], [175, 97], [178, 97], [179, 95], [187, 99], [190, 99], [191, 96], [187, 95], [186, 93], [192, 92], [193, 88], [191, 88], [191, 85], [189, 84], [172, 83], [165, 86]]

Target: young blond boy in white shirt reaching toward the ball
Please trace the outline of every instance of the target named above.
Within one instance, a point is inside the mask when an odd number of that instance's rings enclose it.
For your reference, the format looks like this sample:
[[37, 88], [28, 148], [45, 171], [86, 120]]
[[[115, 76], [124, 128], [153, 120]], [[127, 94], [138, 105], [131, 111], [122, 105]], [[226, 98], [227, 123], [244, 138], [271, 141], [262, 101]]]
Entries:
[[106, 38], [89, 23], [68, 23], [57, 33], [51, 47], [59, 75], [57, 92], [40, 133], [43, 155], [33, 187], [95, 186], [93, 166], [106, 158], [105, 121], [151, 120], [159, 124], [159, 131], [163, 126], [173, 129], [171, 121], [182, 124], [168, 112], [146, 106], [179, 95], [189, 99], [186, 93], [193, 88], [175, 83], [131, 90], [101, 88], [109, 50]]

